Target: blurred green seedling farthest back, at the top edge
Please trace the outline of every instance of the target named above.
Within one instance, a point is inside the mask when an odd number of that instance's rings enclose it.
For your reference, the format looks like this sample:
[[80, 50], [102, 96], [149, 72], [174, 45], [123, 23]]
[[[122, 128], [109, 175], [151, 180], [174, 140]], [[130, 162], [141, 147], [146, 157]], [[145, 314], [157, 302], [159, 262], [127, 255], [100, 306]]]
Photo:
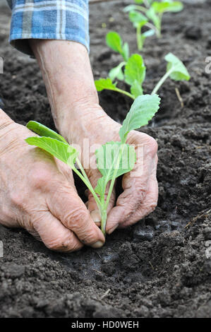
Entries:
[[[140, 6], [141, 4], [143, 4], [144, 6]], [[142, 15], [142, 18], [140, 17], [140, 20], [146, 20], [145, 26], [154, 30], [157, 37], [161, 37], [163, 14], [167, 12], [177, 13], [179, 11], [182, 11], [182, 9], [183, 4], [181, 3], [181, 1], [135, 0], [135, 4], [126, 6], [126, 8], [124, 8], [124, 11], [129, 12], [130, 20], [135, 16], [138, 19], [138, 13], [143, 13], [144, 15]], [[131, 21], [133, 22], [133, 20]]]

